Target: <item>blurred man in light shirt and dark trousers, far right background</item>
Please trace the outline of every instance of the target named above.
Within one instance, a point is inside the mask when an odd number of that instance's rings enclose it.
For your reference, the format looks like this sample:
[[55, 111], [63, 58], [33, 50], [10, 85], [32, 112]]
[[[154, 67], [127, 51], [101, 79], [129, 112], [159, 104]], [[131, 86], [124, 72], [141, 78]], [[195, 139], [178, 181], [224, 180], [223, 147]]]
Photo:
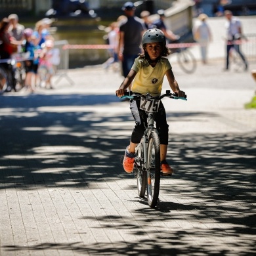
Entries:
[[224, 11], [224, 16], [226, 17], [226, 68], [228, 70], [229, 65], [229, 55], [230, 50], [233, 48], [242, 58], [244, 62], [244, 70], [248, 69], [247, 60], [245, 59], [244, 54], [240, 51], [239, 40], [242, 38], [242, 24], [237, 17], [234, 17], [232, 12], [229, 10]]

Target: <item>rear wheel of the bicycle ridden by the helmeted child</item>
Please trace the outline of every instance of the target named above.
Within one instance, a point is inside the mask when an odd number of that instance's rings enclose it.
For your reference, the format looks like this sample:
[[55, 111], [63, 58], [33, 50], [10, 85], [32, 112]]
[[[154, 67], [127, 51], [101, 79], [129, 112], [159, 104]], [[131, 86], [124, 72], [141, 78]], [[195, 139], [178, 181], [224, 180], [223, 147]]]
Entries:
[[140, 198], [144, 198], [146, 193], [146, 171], [144, 170], [143, 139], [137, 146], [137, 161], [139, 162], [136, 165], [138, 195]]

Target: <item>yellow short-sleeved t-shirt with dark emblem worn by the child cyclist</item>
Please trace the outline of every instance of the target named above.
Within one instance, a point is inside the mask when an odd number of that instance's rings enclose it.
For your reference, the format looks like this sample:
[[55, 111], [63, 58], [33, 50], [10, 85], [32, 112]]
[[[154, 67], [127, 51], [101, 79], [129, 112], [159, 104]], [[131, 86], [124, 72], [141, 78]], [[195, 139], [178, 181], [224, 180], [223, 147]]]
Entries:
[[167, 58], [162, 57], [154, 68], [144, 58], [136, 58], [131, 68], [137, 72], [131, 91], [141, 93], [142, 95], [146, 95], [146, 93], [154, 96], [161, 95], [163, 77], [170, 68], [171, 64]]

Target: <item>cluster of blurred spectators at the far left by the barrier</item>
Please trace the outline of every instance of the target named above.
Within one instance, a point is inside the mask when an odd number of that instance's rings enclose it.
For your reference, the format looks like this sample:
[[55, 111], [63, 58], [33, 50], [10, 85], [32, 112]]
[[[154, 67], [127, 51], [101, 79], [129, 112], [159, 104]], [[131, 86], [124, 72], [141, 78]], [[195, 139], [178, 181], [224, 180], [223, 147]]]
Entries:
[[[26, 77], [25, 88], [33, 93], [36, 87], [53, 89], [54, 37], [49, 28], [53, 21], [43, 18], [34, 28], [25, 28], [17, 14], [3, 18], [0, 24], [0, 65], [8, 71], [9, 60], [23, 60]], [[13, 74], [12, 74], [13, 75]], [[11, 91], [13, 88], [7, 88]]]

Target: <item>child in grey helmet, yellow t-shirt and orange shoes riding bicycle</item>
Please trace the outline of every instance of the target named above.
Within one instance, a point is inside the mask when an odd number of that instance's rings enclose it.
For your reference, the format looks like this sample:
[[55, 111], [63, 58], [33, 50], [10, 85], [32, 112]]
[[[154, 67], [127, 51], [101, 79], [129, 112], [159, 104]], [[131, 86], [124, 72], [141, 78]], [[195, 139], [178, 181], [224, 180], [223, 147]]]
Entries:
[[[124, 95], [126, 89], [132, 83], [131, 91], [146, 95], [150, 93], [154, 96], [161, 95], [161, 87], [163, 77], [166, 75], [169, 85], [173, 92], [178, 96], [184, 97], [185, 93], [179, 89], [179, 85], [173, 75], [172, 67], [166, 56], [170, 54], [166, 47], [165, 35], [161, 30], [156, 28], [147, 30], [142, 36], [143, 54], [135, 59], [131, 71], [121, 83], [116, 95], [121, 97]], [[123, 158], [123, 168], [127, 173], [133, 171], [135, 148], [140, 142], [144, 134], [144, 123], [146, 123], [146, 115], [144, 110], [139, 107], [138, 100], [131, 100], [130, 109], [135, 119], [135, 128], [131, 134], [131, 141], [125, 150], [125, 157]], [[173, 173], [173, 169], [166, 161], [167, 144], [168, 144], [168, 127], [166, 121], [165, 108], [160, 102], [159, 111], [155, 116], [156, 128], [160, 134], [160, 160], [161, 172], [164, 174]]]

